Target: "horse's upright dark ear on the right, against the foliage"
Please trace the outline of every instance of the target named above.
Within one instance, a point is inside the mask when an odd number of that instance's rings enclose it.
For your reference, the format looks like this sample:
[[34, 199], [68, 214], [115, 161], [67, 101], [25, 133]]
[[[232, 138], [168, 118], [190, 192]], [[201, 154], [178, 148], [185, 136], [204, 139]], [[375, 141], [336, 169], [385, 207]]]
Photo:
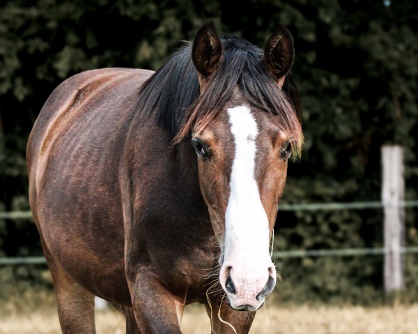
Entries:
[[276, 31], [268, 39], [264, 47], [264, 58], [270, 75], [281, 88], [295, 58], [293, 37], [285, 26], [279, 24]]

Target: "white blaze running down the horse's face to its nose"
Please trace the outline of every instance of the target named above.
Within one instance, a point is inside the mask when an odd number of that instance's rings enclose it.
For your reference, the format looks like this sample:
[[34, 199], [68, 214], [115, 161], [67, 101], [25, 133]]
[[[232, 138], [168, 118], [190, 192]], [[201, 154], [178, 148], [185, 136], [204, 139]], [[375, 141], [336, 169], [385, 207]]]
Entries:
[[[255, 179], [257, 123], [247, 106], [228, 109], [235, 142], [230, 196], [225, 214], [224, 265], [233, 283], [247, 293], [260, 292], [272, 266], [268, 216]], [[249, 291], [251, 290], [251, 292]]]

